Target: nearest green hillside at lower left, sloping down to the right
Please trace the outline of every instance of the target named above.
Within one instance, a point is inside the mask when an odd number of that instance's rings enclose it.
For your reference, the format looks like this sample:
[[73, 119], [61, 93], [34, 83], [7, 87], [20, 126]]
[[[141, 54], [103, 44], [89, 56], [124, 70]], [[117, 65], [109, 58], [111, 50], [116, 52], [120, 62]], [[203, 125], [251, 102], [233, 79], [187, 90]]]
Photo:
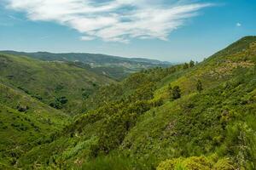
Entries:
[[68, 116], [0, 83], [0, 169], [67, 125]]

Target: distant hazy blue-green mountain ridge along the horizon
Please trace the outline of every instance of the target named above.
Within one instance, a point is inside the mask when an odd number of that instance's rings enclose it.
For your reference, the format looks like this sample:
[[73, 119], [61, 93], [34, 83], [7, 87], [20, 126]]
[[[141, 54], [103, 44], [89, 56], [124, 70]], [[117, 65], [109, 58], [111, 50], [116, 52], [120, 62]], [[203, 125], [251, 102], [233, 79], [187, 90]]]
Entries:
[[2, 51], [4, 54], [15, 54], [29, 56], [44, 61], [69, 61], [84, 66], [98, 74], [107, 75], [116, 80], [122, 80], [133, 72], [157, 66], [166, 67], [172, 65], [166, 61], [142, 58], [122, 58], [105, 54], [52, 54], [47, 52], [24, 53], [16, 51]]

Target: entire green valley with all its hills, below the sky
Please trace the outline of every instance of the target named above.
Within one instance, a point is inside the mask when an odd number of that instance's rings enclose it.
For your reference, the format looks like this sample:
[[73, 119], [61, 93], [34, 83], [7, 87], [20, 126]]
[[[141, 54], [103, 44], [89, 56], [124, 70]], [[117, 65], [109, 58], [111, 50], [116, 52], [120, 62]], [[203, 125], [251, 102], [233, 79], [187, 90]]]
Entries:
[[177, 65], [0, 54], [0, 169], [255, 169], [255, 114], [253, 36]]

